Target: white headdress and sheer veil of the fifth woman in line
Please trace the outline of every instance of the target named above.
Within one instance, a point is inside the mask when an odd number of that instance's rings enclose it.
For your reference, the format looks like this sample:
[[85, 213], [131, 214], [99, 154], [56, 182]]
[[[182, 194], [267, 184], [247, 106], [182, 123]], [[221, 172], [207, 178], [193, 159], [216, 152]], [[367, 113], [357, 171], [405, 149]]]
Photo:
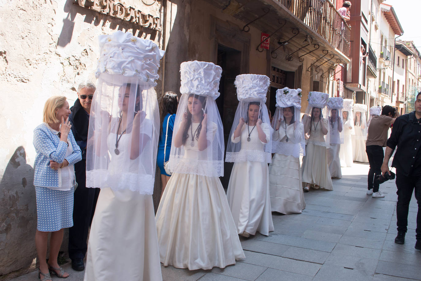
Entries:
[[[321, 115], [320, 115], [320, 122], [323, 122], [322, 119], [326, 119], [328, 120], [328, 110], [326, 108], [326, 104], [328, 103], [328, 99], [329, 99], [329, 95], [326, 93], [322, 93], [322, 92], [309, 92], [309, 97], [307, 99], [307, 101], [309, 102], [307, 108], [306, 108], [306, 113], [303, 115], [303, 119], [302, 119], [302, 123], [304, 125], [304, 133], [308, 136], [307, 139], [307, 143], [313, 143], [314, 145], [320, 145], [320, 146], [325, 146], [329, 148], [330, 145], [330, 133], [329, 133], [329, 128], [330, 126], [328, 126], [328, 134], [326, 134], [324, 136], [325, 141], [324, 142], [320, 142], [320, 141], [315, 141], [312, 140], [310, 138], [310, 132], [311, 132], [311, 126], [313, 123], [313, 109], [314, 108], [320, 108], [321, 110]], [[316, 125], [317, 128], [318, 125]]]

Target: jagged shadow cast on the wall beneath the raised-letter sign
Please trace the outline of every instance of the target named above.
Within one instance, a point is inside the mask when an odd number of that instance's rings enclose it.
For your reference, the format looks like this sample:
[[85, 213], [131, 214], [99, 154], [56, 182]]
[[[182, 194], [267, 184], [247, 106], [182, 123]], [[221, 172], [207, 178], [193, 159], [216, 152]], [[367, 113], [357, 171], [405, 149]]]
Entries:
[[60, 47], [65, 47], [72, 40], [75, 18], [78, 13], [85, 16], [85, 19], [83, 20], [85, 23], [93, 24], [96, 27], [100, 25], [101, 27], [105, 27], [106, 24], [109, 24], [109, 29], [112, 30], [121, 30], [126, 32], [128, 29], [132, 29], [133, 36], [146, 37], [152, 41], [159, 41], [161, 39], [161, 32], [157, 32], [156, 30], [149, 28], [142, 28], [139, 25], [102, 13], [97, 13], [96, 11], [90, 11], [86, 8], [74, 5], [73, 3], [74, 0], [67, 0], [63, 8], [64, 12], [67, 13], [67, 16], [63, 19], [63, 27], [61, 28], [61, 32], [57, 40], [57, 45]]

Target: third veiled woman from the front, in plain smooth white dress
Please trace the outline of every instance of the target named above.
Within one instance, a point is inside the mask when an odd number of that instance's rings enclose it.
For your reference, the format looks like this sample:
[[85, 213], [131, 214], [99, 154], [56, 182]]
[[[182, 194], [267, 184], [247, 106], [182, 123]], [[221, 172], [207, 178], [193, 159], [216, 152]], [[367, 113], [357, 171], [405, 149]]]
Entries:
[[249, 237], [256, 231], [273, 231], [269, 198], [272, 128], [264, 105], [269, 77], [242, 74], [235, 78], [238, 104], [226, 150], [234, 162], [226, 196], [237, 233]]

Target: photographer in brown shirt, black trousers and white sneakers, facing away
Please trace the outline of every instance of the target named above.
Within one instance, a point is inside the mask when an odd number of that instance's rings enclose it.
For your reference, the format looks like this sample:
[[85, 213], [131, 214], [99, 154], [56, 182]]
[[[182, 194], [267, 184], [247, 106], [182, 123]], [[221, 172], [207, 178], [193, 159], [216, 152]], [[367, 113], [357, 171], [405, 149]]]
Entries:
[[365, 152], [367, 153], [370, 170], [368, 171], [367, 195], [373, 198], [383, 198], [384, 194], [378, 190], [379, 182], [375, 176], [381, 175], [381, 163], [383, 163], [383, 147], [387, 142], [387, 131], [394, 123], [399, 112], [390, 105], [385, 105], [381, 115], [375, 115], [368, 126], [367, 142], [365, 142]]

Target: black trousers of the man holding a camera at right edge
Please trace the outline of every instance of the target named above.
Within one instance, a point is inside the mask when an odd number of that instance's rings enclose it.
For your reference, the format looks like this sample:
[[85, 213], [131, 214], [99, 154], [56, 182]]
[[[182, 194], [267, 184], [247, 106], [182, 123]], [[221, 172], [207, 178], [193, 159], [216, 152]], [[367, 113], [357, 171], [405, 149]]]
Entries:
[[417, 213], [417, 228], [416, 238], [421, 241], [421, 177], [411, 176], [407, 177], [396, 170], [396, 187], [397, 187], [397, 203], [396, 203], [396, 216], [397, 216], [397, 231], [406, 232], [408, 229], [408, 210], [409, 202], [411, 201], [412, 192], [415, 189], [415, 198], [418, 203]]

